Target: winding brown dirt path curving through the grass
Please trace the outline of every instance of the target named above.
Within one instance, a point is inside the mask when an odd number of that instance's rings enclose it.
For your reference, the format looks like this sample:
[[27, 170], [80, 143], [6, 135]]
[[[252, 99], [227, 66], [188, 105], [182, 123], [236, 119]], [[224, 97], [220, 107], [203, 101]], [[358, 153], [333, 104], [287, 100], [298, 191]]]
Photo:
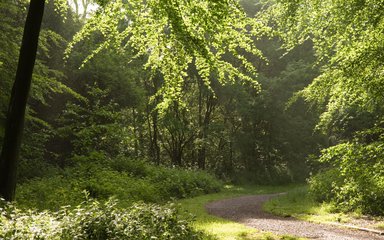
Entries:
[[384, 236], [336, 226], [277, 217], [262, 211], [263, 202], [278, 194], [244, 196], [211, 202], [208, 213], [243, 223], [259, 230], [321, 240], [383, 240]]

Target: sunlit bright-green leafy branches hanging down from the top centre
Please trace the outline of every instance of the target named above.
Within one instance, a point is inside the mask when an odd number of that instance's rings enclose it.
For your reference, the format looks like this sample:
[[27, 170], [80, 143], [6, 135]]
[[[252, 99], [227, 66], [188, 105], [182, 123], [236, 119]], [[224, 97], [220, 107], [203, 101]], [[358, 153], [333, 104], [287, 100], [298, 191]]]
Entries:
[[85, 62], [107, 48], [133, 50], [136, 58], [146, 59], [145, 68], [164, 76], [158, 92], [164, 96], [164, 107], [180, 101], [193, 65], [209, 88], [212, 77], [222, 84], [242, 80], [259, 88], [256, 69], [246, 55], [263, 58], [254, 43], [269, 29], [247, 17], [239, 1], [112, 0], [99, 4], [69, 45], [67, 57], [91, 34], [103, 41]]

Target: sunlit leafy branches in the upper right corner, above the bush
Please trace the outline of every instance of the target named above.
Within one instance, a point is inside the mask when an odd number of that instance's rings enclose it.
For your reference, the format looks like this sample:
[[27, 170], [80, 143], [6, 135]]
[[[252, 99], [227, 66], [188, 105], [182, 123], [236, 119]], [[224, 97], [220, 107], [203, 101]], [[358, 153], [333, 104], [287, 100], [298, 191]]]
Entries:
[[322, 74], [301, 95], [326, 105], [320, 125], [350, 108], [374, 112], [383, 106], [383, 1], [277, 0], [264, 16], [288, 49], [313, 42]]

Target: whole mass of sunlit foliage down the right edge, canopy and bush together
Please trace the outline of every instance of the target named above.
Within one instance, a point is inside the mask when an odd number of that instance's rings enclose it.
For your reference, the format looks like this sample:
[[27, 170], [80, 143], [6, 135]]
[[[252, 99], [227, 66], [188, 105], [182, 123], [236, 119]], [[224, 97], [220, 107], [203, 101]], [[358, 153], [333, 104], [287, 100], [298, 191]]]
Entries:
[[[266, 15], [288, 48], [312, 41], [320, 75], [299, 95], [320, 110], [329, 147], [310, 191], [341, 210], [384, 213], [382, 1], [280, 1]], [[268, 19], [268, 17], [267, 17]]]

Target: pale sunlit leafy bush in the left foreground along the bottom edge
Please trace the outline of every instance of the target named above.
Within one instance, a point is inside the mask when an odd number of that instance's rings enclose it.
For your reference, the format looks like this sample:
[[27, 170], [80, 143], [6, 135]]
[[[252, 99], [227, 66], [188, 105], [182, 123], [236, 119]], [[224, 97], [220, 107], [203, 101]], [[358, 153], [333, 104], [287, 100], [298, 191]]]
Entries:
[[172, 207], [135, 204], [121, 210], [116, 203], [88, 201], [73, 210], [35, 212], [2, 202], [0, 239], [202, 239]]

